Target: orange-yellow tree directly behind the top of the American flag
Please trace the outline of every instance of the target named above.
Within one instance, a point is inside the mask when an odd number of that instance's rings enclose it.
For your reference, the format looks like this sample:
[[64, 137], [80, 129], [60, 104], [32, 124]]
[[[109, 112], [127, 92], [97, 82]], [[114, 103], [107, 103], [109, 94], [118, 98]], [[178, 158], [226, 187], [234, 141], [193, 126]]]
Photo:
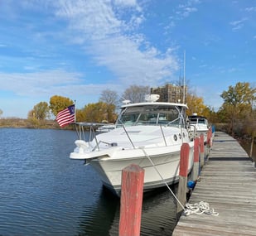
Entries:
[[54, 95], [50, 99], [49, 108], [51, 109], [51, 113], [53, 113], [56, 116], [57, 113], [59, 113], [61, 110], [64, 110], [72, 104], [74, 104], [73, 100], [59, 95]]

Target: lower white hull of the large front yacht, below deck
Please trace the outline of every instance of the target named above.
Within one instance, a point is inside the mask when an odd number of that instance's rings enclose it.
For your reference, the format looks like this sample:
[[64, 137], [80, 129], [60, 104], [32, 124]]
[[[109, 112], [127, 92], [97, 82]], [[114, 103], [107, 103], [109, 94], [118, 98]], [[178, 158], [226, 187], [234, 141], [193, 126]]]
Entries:
[[[190, 147], [189, 172], [193, 166], [193, 145], [190, 145]], [[142, 155], [139, 157], [92, 159], [89, 160], [89, 164], [99, 174], [103, 185], [116, 195], [121, 193], [122, 170], [131, 164], [144, 169], [143, 190], [145, 192], [164, 185], [172, 185], [179, 181], [180, 151], [152, 156], [147, 155], [149, 150], [140, 150], [140, 152]]]

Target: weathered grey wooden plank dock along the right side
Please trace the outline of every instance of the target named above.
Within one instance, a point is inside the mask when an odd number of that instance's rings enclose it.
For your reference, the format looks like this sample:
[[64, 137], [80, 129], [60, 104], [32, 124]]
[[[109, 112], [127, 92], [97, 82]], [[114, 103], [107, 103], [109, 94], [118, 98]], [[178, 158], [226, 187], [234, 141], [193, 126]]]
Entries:
[[239, 142], [225, 132], [215, 132], [188, 203], [200, 201], [219, 215], [181, 214], [173, 236], [256, 235], [256, 168]]

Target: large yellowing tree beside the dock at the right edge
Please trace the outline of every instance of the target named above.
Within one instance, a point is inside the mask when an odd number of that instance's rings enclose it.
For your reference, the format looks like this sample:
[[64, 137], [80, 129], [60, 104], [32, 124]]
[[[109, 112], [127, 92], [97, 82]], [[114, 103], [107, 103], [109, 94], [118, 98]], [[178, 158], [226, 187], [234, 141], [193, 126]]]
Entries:
[[229, 86], [227, 91], [220, 94], [224, 99], [224, 104], [220, 108], [220, 113], [225, 113], [229, 123], [229, 132], [234, 134], [234, 124], [239, 128], [239, 124], [247, 118], [253, 111], [253, 103], [256, 89], [249, 83], [237, 83], [235, 86]]

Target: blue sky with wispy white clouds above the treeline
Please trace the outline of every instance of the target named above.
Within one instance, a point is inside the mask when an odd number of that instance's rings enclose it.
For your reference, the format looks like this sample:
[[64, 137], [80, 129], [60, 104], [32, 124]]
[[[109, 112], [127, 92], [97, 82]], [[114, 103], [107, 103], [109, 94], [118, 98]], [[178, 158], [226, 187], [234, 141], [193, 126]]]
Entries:
[[255, 86], [255, 22], [254, 0], [0, 0], [2, 117], [173, 83], [185, 51], [189, 89], [217, 110], [229, 85]]

